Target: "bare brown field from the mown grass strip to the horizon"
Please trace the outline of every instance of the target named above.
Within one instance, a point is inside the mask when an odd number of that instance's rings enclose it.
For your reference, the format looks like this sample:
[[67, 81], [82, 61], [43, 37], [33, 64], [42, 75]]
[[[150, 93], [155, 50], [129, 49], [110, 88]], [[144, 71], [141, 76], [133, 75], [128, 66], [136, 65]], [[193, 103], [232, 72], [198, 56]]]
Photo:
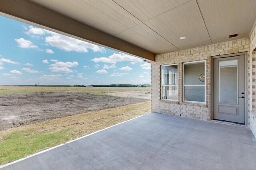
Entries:
[[0, 131], [59, 117], [146, 102], [151, 96], [150, 88], [0, 89]]

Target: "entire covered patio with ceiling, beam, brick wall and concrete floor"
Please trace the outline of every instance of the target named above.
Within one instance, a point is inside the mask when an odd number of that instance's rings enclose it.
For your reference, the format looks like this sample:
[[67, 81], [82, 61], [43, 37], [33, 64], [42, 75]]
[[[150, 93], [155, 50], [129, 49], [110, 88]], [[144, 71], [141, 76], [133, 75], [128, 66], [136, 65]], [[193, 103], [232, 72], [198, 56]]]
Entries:
[[255, 8], [255, 0], [0, 1], [2, 16], [150, 62], [154, 112], [3, 169], [255, 169]]

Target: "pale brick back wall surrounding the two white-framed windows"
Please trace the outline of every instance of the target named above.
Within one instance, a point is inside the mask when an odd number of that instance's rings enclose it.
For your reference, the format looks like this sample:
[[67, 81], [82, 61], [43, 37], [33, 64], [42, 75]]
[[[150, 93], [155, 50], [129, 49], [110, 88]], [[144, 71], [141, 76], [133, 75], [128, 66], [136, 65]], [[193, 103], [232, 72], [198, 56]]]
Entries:
[[[255, 34], [255, 31], [254, 31]], [[250, 38], [238, 39], [224, 43], [212, 44], [203, 47], [186, 49], [172, 53], [156, 55], [156, 62], [151, 64], [151, 109], [152, 112], [172, 114], [194, 119], [209, 121], [211, 119], [211, 57], [248, 51], [250, 61]], [[206, 104], [192, 104], [182, 102], [182, 63], [189, 61], [206, 60]], [[254, 60], [255, 61], [255, 60]], [[164, 64], [178, 63], [179, 85], [178, 102], [161, 100], [160, 66]], [[253, 67], [253, 66], [252, 66]], [[254, 65], [255, 68], [255, 65]], [[256, 71], [255, 71], [256, 72]], [[254, 72], [254, 75], [255, 75]], [[255, 84], [256, 86], [256, 84]], [[255, 87], [254, 86], [254, 87]], [[255, 91], [256, 92], [256, 91]], [[255, 93], [254, 92], [254, 93]], [[248, 95], [250, 96], [250, 95]], [[249, 98], [248, 98], [249, 99]], [[255, 100], [254, 100], [255, 102]], [[254, 105], [256, 106], [256, 105]], [[248, 121], [250, 117], [248, 114]]]

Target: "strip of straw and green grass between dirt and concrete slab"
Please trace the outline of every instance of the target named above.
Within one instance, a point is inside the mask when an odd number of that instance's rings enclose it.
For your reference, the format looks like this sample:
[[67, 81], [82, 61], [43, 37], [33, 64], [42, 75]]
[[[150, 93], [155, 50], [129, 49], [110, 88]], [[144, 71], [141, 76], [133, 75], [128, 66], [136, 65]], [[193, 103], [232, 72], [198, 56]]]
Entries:
[[0, 165], [149, 112], [143, 102], [0, 131]]

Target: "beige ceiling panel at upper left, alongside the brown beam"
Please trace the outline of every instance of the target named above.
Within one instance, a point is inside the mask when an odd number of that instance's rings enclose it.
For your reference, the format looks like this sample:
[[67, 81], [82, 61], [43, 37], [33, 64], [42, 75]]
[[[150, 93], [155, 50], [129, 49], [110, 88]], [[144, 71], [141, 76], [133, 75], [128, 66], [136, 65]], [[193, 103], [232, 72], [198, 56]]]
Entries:
[[141, 23], [112, 0], [30, 0], [110, 35]]

